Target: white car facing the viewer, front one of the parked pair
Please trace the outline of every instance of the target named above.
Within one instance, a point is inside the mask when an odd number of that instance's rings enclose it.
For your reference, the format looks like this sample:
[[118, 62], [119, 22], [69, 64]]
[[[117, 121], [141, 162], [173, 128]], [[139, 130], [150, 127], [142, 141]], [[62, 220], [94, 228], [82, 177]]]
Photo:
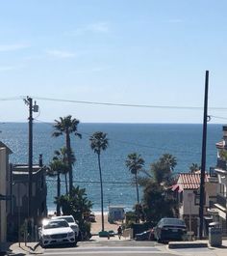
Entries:
[[43, 221], [38, 229], [38, 239], [42, 247], [52, 244], [75, 244], [75, 234], [64, 219], [50, 219]]

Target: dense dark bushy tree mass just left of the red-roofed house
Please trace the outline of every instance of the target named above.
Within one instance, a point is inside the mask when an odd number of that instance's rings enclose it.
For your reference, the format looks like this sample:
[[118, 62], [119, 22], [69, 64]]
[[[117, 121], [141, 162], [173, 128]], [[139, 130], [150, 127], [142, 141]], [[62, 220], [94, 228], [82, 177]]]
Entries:
[[147, 221], [157, 222], [164, 216], [177, 215], [177, 202], [167, 192], [172, 185], [172, 174], [176, 166], [176, 157], [164, 154], [158, 161], [151, 164], [151, 176], [139, 179], [143, 186], [142, 206]]

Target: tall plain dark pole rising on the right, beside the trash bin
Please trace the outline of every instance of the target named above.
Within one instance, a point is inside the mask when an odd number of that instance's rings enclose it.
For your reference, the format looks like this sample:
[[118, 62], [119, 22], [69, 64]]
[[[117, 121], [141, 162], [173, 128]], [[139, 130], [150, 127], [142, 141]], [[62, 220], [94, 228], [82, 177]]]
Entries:
[[207, 148], [207, 122], [208, 122], [208, 85], [209, 71], [205, 76], [205, 97], [204, 97], [204, 116], [203, 116], [203, 142], [202, 142], [202, 158], [201, 158], [201, 174], [200, 174], [200, 196], [199, 196], [199, 239], [203, 238], [203, 215], [204, 215], [204, 199], [205, 199], [205, 172], [206, 172], [206, 148]]

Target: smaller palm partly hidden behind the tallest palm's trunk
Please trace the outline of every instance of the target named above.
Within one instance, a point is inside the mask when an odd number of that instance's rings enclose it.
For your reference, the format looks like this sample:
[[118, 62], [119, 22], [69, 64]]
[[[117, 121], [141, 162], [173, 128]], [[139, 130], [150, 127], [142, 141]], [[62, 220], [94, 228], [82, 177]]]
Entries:
[[[68, 168], [68, 165], [67, 165], [67, 150], [66, 150], [66, 148], [63, 147], [59, 151], [55, 151], [55, 158], [62, 160], [63, 163], [66, 165], [65, 169], [62, 172], [62, 174], [64, 175], [65, 193], [68, 194], [67, 174], [68, 174], [69, 168]], [[71, 152], [71, 162], [72, 162], [72, 165], [74, 165], [75, 161], [76, 161], [76, 157], [75, 157], [74, 153]]]

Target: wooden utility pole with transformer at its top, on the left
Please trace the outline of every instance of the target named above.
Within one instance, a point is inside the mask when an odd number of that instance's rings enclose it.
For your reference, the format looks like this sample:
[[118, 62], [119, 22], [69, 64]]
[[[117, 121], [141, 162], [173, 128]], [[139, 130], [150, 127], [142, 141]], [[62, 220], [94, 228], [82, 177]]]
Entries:
[[27, 100], [24, 100], [25, 103], [29, 106], [29, 158], [28, 158], [28, 218], [32, 214], [32, 189], [33, 189], [33, 112], [38, 112], [38, 105], [35, 101], [33, 105], [33, 99], [27, 97]]

